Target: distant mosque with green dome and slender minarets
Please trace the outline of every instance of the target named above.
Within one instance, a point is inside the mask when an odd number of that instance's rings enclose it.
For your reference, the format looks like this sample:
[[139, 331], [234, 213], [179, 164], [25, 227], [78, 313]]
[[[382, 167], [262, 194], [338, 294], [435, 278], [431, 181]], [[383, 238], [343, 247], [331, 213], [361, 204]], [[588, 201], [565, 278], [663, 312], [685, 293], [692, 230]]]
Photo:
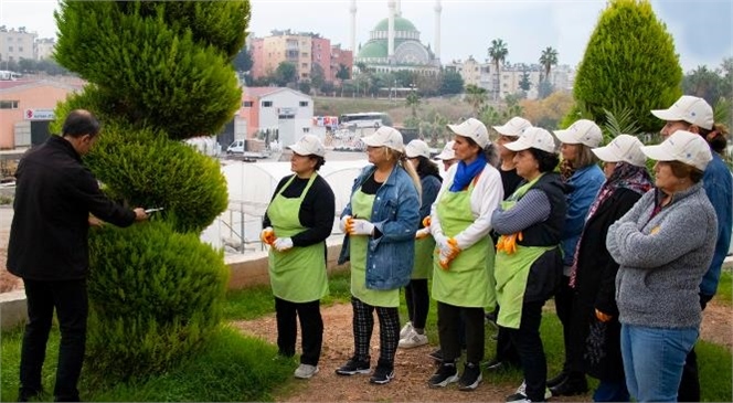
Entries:
[[[376, 73], [412, 71], [422, 75], [437, 75], [440, 71], [440, 1], [435, 2], [434, 49], [424, 45], [419, 31], [402, 17], [400, 0], [387, 1], [389, 17], [374, 25], [370, 39], [354, 52], [354, 68], [363, 63]], [[351, 49], [355, 50], [357, 0], [351, 1]]]

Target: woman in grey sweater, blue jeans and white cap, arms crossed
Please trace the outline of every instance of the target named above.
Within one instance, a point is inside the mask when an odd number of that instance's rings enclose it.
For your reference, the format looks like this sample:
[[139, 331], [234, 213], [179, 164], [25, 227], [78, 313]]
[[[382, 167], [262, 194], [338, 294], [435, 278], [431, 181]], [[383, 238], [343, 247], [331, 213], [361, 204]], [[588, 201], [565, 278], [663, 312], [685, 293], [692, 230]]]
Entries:
[[672, 402], [699, 336], [698, 291], [718, 236], [701, 182], [712, 155], [702, 137], [684, 130], [641, 151], [657, 160], [656, 189], [610, 225], [606, 246], [620, 265], [616, 304], [626, 385], [638, 402]]

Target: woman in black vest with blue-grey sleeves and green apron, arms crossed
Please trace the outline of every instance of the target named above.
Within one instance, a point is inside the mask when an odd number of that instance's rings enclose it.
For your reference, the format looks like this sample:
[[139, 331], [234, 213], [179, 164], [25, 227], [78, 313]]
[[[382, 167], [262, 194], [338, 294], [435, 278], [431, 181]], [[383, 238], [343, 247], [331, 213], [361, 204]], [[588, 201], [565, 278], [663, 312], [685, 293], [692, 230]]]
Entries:
[[522, 362], [524, 383], [507, 402], [546, 397], [548, 365], [540, 338], [542, 306], [562, 276], [561, 231], [565, 222], [565, 194], [557, 166], [555, 141], [542, 128], [524, 130], [504, 147], [516, 151], [517, 173], [523, 181], [491, 216], [497, 243], [495, 276], [497, 324], [507, 328]]

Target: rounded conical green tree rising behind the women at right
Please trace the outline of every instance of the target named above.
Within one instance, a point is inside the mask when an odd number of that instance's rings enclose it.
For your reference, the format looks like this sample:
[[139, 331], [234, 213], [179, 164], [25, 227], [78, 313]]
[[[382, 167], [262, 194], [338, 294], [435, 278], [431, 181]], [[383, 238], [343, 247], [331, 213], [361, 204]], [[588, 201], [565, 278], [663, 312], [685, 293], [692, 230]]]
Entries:
[[604, 109], [628, 107], [641, 130], [651, 132], [659, 130], [659, 120], [649, 110], [674, 103], [681, 81], [672, 36], [651, 4], [609, 0], [588, 41], [573, 94], [584, 117], [603, 124]]

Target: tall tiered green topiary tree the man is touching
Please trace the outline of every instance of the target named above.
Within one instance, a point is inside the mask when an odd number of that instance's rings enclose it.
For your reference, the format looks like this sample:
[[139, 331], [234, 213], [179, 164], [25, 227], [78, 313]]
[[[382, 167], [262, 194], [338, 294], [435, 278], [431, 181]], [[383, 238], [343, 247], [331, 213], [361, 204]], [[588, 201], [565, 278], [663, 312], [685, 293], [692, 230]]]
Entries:
[[85, 162], [105, 191], [164, 208], [134, 229], [91, 233], [87, 363], [105, 378], [166, 372], [222, 317], [227, 269], [199, 236], [226, 209], [226, 182], [216, 160], [180, 140], [219, 132], [238, 108], [233, 61], [249, 3], [62, 0], [54, 17], [55, 60], [89, 83], [55, 115], [97, 115]]

